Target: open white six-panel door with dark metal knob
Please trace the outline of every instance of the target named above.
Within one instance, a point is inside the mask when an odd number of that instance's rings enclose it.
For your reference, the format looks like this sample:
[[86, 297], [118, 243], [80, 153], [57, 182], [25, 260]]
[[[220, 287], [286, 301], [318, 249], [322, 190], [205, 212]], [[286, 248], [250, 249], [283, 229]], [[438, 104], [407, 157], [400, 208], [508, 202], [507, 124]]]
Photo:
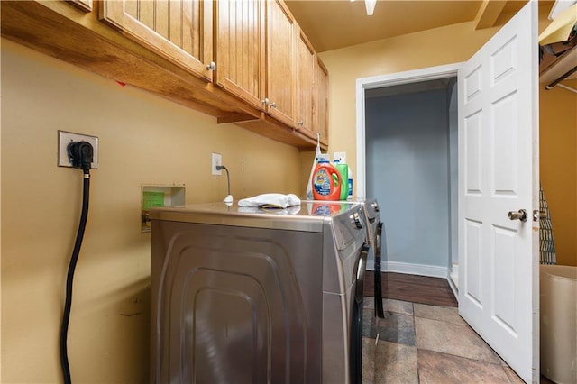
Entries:
[[[459, 313], [527, 382], [539, 373], [536, 36], [530, 1], [458, 72]], [[519, 210], [526, 221], [509, 218]]]

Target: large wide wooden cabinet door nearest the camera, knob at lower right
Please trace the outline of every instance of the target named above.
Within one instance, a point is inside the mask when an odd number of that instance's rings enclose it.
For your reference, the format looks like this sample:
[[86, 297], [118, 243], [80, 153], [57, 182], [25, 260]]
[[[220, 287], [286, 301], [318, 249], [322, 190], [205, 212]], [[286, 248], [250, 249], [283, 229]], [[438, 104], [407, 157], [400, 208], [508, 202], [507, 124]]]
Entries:
[[165, 59], [212, 80], [210, 0], [104, 0], [100, 18]]

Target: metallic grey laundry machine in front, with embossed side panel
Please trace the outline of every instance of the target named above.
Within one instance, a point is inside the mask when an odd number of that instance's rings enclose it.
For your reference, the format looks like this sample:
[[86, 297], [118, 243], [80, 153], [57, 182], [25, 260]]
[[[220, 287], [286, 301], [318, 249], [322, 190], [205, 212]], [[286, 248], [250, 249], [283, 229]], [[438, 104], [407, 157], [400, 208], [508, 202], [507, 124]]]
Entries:
[[214, 203], [151, 220], [153, 382], [362, 382], [362, 206]]

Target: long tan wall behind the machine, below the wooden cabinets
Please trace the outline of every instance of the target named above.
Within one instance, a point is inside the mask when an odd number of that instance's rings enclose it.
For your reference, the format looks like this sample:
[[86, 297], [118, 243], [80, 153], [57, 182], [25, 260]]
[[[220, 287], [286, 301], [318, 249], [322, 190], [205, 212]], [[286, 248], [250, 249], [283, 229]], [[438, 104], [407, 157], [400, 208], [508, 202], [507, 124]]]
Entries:
[[69, 329], [75, 382], [146, 382], [150, 235], [142, 183], [187, 202], [300, 193], [298, 150], [2, 40], [2, 382], [60, 382], [58, 338], [82, 176], [56, 166], [57, 131], [100, 139]]

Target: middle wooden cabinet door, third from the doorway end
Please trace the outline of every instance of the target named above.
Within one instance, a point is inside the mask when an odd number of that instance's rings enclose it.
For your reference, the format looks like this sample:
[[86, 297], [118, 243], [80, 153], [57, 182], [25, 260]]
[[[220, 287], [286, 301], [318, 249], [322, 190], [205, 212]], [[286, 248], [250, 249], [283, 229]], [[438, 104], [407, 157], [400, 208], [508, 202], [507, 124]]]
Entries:
[[267, 112], [294, 126], [297, 24], [287, 5], [267, 2]]

